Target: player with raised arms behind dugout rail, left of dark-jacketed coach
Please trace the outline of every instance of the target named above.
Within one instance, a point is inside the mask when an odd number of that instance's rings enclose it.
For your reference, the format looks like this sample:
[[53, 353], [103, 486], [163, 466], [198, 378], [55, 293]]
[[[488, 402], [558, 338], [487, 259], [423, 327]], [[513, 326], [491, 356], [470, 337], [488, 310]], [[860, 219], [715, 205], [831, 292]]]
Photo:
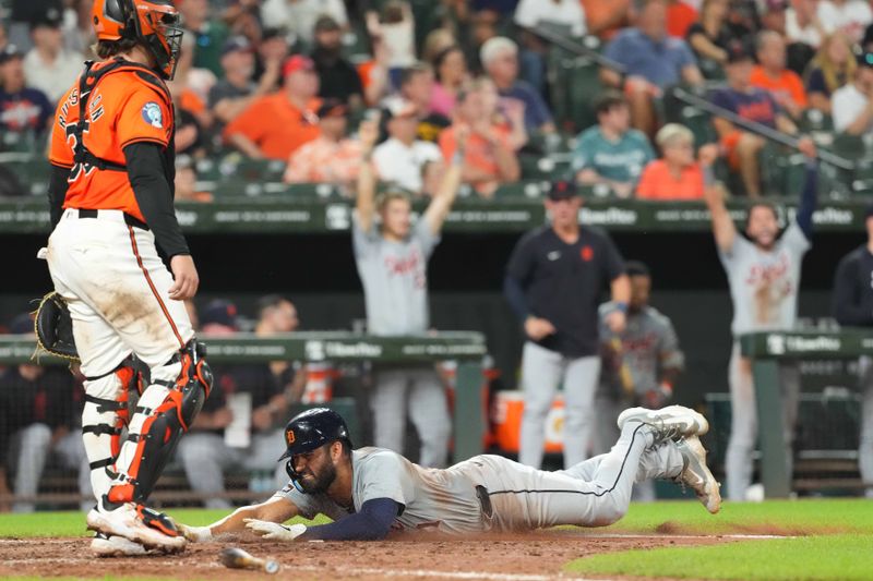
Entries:
[[[375, 141], [374, 125], [372, 121], [361, 125], [364, 155]], [[419, 335], [430, 329], [427, 266], [461, 185], [463, 148], [469, 144], [463, 131], [458, 143], [458, 155], [415, 226], [408, 196], [388, 190], [376, 199], [373, 168], [368, 162], [361, 167], [351, 234], [363, 285], [367, 328], [373, 335]], [[379, 225], [376, 216], [381, 218]], [[408, 414], [421, 443], [418, 462], [444, 467], [452, 424], [445, 390], [433, 364], [374, 364], [373, 376], [370, 406], [374, 445], [402, 452]]]

